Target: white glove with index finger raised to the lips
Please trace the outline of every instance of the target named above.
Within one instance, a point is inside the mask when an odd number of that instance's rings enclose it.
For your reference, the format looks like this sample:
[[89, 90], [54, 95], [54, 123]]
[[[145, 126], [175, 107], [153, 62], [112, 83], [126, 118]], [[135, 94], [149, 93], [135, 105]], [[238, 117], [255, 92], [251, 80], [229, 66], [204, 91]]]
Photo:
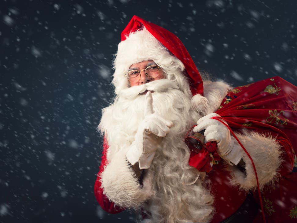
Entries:
[[165, 137], [173, 126], [172, 121], [154, 113], [150, 91], [145, 95], [145, 104], [145, 118], [139, 124], [135, 142], [126, 154], [127, 160], [132, 165], [138, 162], [140, 169], [148, 169], [151, 166], [162, 137]]

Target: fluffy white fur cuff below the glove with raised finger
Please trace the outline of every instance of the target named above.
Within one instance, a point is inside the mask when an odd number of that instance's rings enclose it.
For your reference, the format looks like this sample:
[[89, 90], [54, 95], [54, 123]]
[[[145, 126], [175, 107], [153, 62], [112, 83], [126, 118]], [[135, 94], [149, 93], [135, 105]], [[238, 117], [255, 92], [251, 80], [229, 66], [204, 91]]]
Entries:
[[152, 195], [150, 188], [141, 188], [126, 159], [126, 150], [118, 151], [101, 174], [103, 192], [117, 206], [137, 210]]

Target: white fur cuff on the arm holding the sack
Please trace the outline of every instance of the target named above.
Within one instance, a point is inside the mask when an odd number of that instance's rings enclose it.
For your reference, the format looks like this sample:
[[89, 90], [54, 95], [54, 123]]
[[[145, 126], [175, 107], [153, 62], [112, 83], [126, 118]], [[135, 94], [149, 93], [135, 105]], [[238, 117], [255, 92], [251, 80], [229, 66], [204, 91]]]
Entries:
[[[281, 146], [272, 136], [264, 136], [257, 132], [244, 131], [236, 134], [240, 142], [246, 148], [256, 167], [260, 189], [266, 184], [273, 184], [279, 177], [277, 173], [281, 165]], [[240, 149], [242, 149], [240, 147]], [[243, 154], [246, 174], [241, 172], [235, 165], [229, 165], [227, 169], [231, 173], [231, 182], [246, 191], [255, 190], [257, 181], [250, 158]]]

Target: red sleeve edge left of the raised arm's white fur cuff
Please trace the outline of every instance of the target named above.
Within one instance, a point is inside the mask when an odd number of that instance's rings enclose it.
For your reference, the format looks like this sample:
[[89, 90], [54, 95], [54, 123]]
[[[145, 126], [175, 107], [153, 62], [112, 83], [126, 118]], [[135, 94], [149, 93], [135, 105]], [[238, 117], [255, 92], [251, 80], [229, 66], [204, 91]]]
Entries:
[[99, 173], [97, 175], [97, 179], [95, 182], [94, 192], [95, 192], [95, 197], [103, 210], [111, 214], [117, 214], [119, 212], [122, 212], [125, 209], [120, 208], [119, 206], [116, 206], [115, 203], [111, 202], [108, 199], [108, 197], [105, 194], [103, 194], [103, 188], [101, 187], [100, 175], [103, 172], [104, 167], [107, 165], [107, 158], [106, 158], [107, 150], [108, 150], [108, 142], [106, 137], [104, 137], [103, 153], [101, 157], [102, 161], [101, 161], [101, 165], [99, 167]]

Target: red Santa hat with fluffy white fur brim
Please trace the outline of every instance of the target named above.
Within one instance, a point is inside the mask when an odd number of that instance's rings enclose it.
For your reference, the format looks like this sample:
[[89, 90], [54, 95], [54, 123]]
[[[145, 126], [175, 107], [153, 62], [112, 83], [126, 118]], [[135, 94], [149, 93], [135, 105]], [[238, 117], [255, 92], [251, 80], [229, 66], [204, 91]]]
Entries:
[[[193, 59], [180, 39], [168, 30], [133, 16], [121, 34], [114, 61], [113, 84], [116, 93], [128, 87], [124, 76], [130, 65], [145, 60], [158, 61], [178, 58], [186, 69], [193, 95], [203, 95], [203, 81]], [[159, 63], [160, 64], [160, 63]]]

